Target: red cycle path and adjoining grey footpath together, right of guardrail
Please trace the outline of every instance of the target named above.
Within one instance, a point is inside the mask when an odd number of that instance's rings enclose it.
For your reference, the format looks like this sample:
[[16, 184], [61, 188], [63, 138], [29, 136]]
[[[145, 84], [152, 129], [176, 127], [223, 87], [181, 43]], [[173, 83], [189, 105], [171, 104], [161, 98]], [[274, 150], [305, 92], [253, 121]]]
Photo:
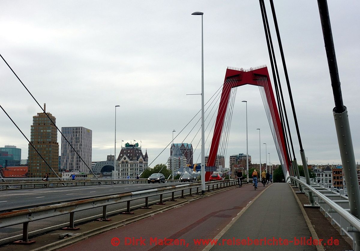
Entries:
[[[309, 239], [311, 234], [291, 187], [274, 183], [265, 188], [236, 187], [63, 250], [316, 250], [291, 242], [284, 245], [284, 239]], [[265, 238], [273, 245], [254, 244]], [[213, 239], [219, 239], [216, 245], [207, 245]], [[252, 245], [236, 245], [238, 239], [252, 241]]]

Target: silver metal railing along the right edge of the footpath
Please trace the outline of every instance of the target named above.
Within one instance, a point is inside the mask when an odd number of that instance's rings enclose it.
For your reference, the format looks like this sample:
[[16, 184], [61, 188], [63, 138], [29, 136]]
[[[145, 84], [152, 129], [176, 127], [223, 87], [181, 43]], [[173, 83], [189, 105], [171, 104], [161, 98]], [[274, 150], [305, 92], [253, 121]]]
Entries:
[[345, 196], [344, 190], [335, 191], [334, 186], [327, 188], [327, 184], [311, 182], [311, 186], [306, 184], [303, 179], [288, 177], [303, 186], [306, 195], [309, 197], [309, 191], [315, 199], [315, 204], [320, 207], [320, 211], [324, 211], [325, 217], [330, 217], [331, 224], [338, 225], [341, 235], [347, 235], [352, 239], [355, 249], [354, 232], [360, 232], [360, 220], [350, 213], [350, 205], [348, 197]]

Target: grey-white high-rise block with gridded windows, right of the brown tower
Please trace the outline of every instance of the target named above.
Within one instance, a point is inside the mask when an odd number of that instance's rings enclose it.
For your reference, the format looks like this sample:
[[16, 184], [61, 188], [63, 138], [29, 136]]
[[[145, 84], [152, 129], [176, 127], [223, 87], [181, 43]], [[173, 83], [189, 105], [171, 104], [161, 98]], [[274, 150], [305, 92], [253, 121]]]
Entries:
[[61, 133], [75, 149], [61, 136], [61, 169], [69, 172], [78, 170], [80, 173], [89, 173], [93, 131], [85, 127], [62, 127]]

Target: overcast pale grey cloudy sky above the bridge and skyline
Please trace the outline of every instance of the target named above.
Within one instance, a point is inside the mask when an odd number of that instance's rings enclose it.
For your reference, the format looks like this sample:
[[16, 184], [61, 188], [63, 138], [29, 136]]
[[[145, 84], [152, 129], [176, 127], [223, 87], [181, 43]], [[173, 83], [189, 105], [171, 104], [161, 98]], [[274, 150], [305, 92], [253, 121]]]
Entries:
[[[270, 4], [265, 2], [270, 13]], [[340, 164], [317, 2], [274, 0], [274, 4], [308, 163]], [[328, 5], [342, 95], [359, 161], [360, 87], [356, 74], [360, 65], [360, 2], [329, 0]], [[46, 103], [46, 111], [56, 117], [59, 128], [82, 126], [93, 131], [93, 161], [105, 160], [114, 153], [115, 105], [120, 105], [117, 141], [141, 141], [149, 162], [171, 142], [173, 129], [177, 131], [175, 143], [193, 143], [195, 149], [200, 135], [195, 136], [191, 128], [177, 136], [201, 109], [201, 96], [186, 96], [201, 93], [201, 17], [191, 13], [204, 12], [205, 101], [222, 86], [228, 66], [247, 69], [266, 64], [271, 72], [258, 1], [1, 0], [0, 8], [1, 55], [37, 101]], [[272, 35], [275, 37], [274, 29]], [[0, 79], [1, 106], [30, 138], [32, 116], [41, 109], [3, 61]], [[283, 75], [282, 85], [287, 93]], [[285, 98], [300, 160], [288, 95]], [[242, 100], [248, 101], [248, 152], [252, 162], [259, 162], [256, 128], [261, 128], [261, 143], [267, 143], [271, 163], [279, 163], [255, 86], [237, 90], [226, 162], [229, 155], [246, 153], [246, 109]], [[213, 122], [208, 123], [206, 135], [212, 133]], [[206, 150], [210, 142], [211, 136]], [[0, 146], [4, 145], [21, 148], [22, 159], [27, 159], [28, 142], [1, 111]], [[120, 147], [118, 143], [117, 153]], [[166, 163], [169, 154], [168, 148], [153, 165]], [[194, 161], [199, 155], [200, 145]]]

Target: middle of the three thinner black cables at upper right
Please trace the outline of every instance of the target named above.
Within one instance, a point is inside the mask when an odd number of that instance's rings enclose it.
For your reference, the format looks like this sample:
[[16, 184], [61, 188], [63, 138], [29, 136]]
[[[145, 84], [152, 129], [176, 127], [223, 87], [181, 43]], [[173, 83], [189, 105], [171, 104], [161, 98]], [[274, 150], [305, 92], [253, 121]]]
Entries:
[[[269, 36], [269, 43], [270, 43], [270, 49], [272, 51], [272, 57], [270, 56], [270, 60], [274, 62], [274, 66], [275, 66], [275, 72], [276, 72], [276, 77], [277, 77], [277, 82], [278, 82], [278, 87], [279, 87], [279, 92], [280, 92], [280, 95], [281, 95], [281, 100], [282, 100], [282, 105], [281, 103], [279, 102], [279, 109], [280, 109], [280, 118], [283, 122], [283, 124], [287, 125], [287, 130], [286, 128], [284, 128], [284, 132], [285, 132], [285, 137], [287, 139], [287, 146], [288, 146], [288, 154], [289, 154], [289, 158], [291, 159], [291, 151], [290, 151], [290, 146], [289, 146], [289, 139], [290, 139], [290, 143], [291, 143], [291, 149], [292, 149], [292, 154], [294, 156], [294, 163], [296, 163], [296, 156], [295, 156], [295, 152], [294, 152], [294, 147], [293, 147], [293, 142], [292, 142], [292, 137], [291, 137], [291, 131], [290, 131], [290, 128], [289, 128], [289, 121], [288, 121], [288, 117], [287, 117], [287, 112], [286, 112], [286, 106], [285, 106], [285, 102], [284, 102], [284, 96], [283, 96], [283, 91], [282, 91], [282, 86], [281, 86], [281, 82], [280, 82], [280, 76], [279, 76], [279, 71], [278, 71], [278, 65], [276, 63], [276, 57], [275, 57], [275, 51], [274, 51], [274, 46], [273, 46], [273, 41], [271, 39], [271, 32], [270, 32], [270, 28], [269, 28], [269, 22], [267, 20], [267, 15], [266, 15], [266, 10], [264, 9], [264, 14], [263, 14], [264, 18], [265, 18], [265, 23], [266, 23], [266, 30], [265, 30], [265, 35], [268, 35]], [[268, 43], [268, 47], [269, 47], [269, 43]], [[276, 79], [274, 77], [274, 83], [275, 83], [275, 86], [276, 86]], [[278, 96], [278, 93], [277, 93], [277, 96]], [[285, 120], [286, 120], [286, 123], [284, 121], [284, 115], [285, 115]], [[288, 131], [288, 133], [287, 133]], [[288, 138], [288, 135], [289, 134], [289, 138]], [[289, 161], [289, 163], [293, 163], [292, 161]], [[294, 168], [293, 165], [291, 165], [292, 168]], [[292, 169], [290, 169], [292, 170]], [[297, 168], [297, 163], [296, 163], [296, 170], [297, 170], [297, 173], [298, 173], [298, 168]], [[294, 171], [294, 170], [293, 170]], [[298, 178], [299, 177], [299, 174], [298, 175]]]

